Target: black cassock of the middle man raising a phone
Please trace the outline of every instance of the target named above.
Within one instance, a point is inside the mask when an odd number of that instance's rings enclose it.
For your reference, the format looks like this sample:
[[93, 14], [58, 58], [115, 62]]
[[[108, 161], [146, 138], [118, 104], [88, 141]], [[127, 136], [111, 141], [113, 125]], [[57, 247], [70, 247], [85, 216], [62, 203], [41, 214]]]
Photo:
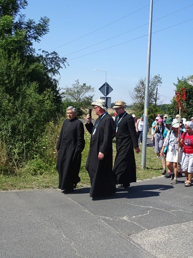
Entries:
[[[116, 193], [116, 184], [112, 172], [113, 118], [106, 113], [106, 115], [102, 115], [96, 120], [94, 127], [92, 123], [87, 123], [85, 126], [91, 133], [90, 149], [86, 162], [86, 170], [88, 171], [91, 183], [90, 196], [100, 197], [114, 194]], [[104, 153], [103, 160], [98, 159], [99, 152]]]

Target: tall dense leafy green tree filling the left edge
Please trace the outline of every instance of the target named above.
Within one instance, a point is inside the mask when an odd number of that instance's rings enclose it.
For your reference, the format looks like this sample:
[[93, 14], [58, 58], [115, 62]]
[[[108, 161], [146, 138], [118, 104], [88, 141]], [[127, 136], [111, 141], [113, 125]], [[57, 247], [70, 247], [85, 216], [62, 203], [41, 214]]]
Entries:
[[26, 6], [26, 0], [0, 0], [0, 156], [6, 150], [1, 160], [15, 170], [35, 156], [47, 123], [61, 111], [55, 76], [66, 64], [56, 52], [35, 53], [49, 19], [25, 20]]

